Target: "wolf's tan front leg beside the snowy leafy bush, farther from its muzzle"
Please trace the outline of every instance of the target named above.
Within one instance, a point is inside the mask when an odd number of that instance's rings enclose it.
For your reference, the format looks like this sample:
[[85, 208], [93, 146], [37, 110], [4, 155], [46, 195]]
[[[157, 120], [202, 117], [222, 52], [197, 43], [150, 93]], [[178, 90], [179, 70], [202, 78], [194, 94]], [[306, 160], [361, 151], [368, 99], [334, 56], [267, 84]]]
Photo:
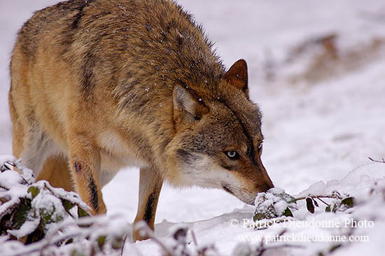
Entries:
[[90, 138], [81, 135], [71, 138], [70, 164], [76, 190], [91, 207], [92, 215], [106, 213], [99, 183], [100, 152]]

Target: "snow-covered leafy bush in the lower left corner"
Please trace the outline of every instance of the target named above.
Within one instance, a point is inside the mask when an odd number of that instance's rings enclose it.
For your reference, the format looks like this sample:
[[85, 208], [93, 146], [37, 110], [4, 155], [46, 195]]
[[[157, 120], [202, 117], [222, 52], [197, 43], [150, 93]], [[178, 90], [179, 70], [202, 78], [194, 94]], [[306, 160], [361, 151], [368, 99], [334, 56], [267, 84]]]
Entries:
[[15, 157], [1, 157], [0, 170], [1, 255], [120, 255], [125, 218], [88, 217], [78, 194], [35, 182]]

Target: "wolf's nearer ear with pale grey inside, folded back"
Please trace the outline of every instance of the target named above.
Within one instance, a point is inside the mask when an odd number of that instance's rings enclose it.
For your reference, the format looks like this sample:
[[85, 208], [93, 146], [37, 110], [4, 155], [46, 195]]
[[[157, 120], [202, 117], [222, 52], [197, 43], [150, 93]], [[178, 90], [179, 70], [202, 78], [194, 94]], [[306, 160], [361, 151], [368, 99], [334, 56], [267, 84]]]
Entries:
[[174, 101], [174, 120], [176, 124], [183, 121], [196, 122], [202, 118], [202, 115], [209, 112], [207, 107], [204, 106], [202, 99], [195, 99], [190, 92], [179, 84], [174, 86], [172, 98]]

